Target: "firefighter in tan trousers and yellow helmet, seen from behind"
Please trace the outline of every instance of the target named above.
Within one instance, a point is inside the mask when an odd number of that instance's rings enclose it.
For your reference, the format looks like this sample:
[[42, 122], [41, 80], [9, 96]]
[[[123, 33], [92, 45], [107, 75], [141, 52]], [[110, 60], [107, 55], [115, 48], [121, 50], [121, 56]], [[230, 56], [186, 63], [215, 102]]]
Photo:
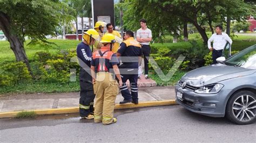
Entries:
[[[104, 46], [93, 53], [91, 61], [93, 89], [96, 94], [94, 121], [95, 123], [102, 122], [104, 125], [117, 121], [113, 118], [114, 101], [119, 92], [118, 86], [123, 84], [117, 66], [119, 63], [117, 56], [111, 51], [114, 42], [114, 35], [103, 35], [100, 43]], [[113, 74], [116, 74], [119, 79], [119, 85]]]

